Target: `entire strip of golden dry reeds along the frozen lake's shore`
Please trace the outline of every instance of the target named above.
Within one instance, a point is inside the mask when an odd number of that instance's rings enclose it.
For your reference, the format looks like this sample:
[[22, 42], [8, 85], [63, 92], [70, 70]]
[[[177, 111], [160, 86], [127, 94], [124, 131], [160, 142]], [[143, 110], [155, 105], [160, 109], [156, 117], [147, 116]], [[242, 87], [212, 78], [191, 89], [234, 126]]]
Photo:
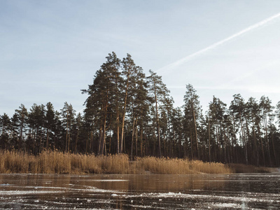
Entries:
[[127, 155], [80, 155], [57, 151], [30, 155], [20, 151], [0, 151], [1, 174], [230, 174], [221, 163], [178, 158], [138, 158]]

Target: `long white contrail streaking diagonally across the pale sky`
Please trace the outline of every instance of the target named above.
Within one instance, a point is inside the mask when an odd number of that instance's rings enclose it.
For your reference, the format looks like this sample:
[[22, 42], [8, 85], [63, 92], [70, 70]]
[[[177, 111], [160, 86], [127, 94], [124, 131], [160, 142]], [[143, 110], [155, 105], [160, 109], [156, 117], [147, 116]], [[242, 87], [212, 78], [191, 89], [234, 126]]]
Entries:
[[251, 30], [253, 30], [253, 29], [256, 29], [256, 28], [258, 28], [258, 27], [261, 27], [262, 25], [267, 24], [268, 22], [270, 22], [270, 21], [272, 21], [272, 20], [278, 18], [279, 16], [280, 16], [280, 13], [277, 13], [276, 15], [273, 15], [273, 16], [270, 17], [270, 18], [267, 18], [267, 19], [265, 19], [265, 20], [262, 20], [262, 21], [256, 23], [255, 25], [251, 25], [250, 27], [239, 31], [238, 33], [233, 34], [232, 36], [229, 36], [228, 38], [225, 38], [225, 39], [223, 39], [223, 40], [221, 40], [221, 41], [218, 41], [218, 42], [216, 42], [216, 43], [214, 43], [214, 44], [212, 44], [212, 45], [209, 45], [207, 48], [204, 48], [204, 49], [202, 49], [202, 50], [199, 50], [199, 51], [197, 51], [197, 52], [195, 52], [195, 53], [193, 53], [193, 54], [190, 54], [190, 55], [188, 55], [188, 56], [186, 56], [186, 57], [183, 57], [182, 59], [179, 59], [179, 60], [176, 61], [176, 62], [173, 62], [172, 64], [169, 64], [169, 65], [167, 65], [167, 66], [164, 66], [164, 67], [158, 69], [157, 72], [158, 72], [158, 71], [163, 71], [163, 70], [171, 70], [171, 69], [174, 69], [176, 66], [180, 66], [181, 64], [190, 61], [191, 59], [193, 59], [193, 58], [196, 57], [197, 55], [200, 55], [200, 54], [202, 54], [202, 53], [204, 53], [204, 52], [207, 52], [208, 50], [214, 49], [214, 48], [218, 47], [218, 45], [222, 45], [223, 43], [226, 43], [226, 42], [232, 40], [233, 38], [236, 38], [237, 36], [241, 36], [242, 34], [246, 34], [248, 31], [251, 31]]

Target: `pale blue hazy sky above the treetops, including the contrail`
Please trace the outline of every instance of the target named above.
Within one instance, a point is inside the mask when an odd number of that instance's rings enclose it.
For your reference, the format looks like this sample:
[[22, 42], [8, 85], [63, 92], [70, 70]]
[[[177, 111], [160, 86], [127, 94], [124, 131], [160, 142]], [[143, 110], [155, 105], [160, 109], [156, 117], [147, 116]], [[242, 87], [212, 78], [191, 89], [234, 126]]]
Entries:
[[64, 102], [83, 111], [95, 72], [116, 52], [162, 76], [183, 105], [186, 85], [213, 96], [280, 101], [279, 0], [0, 0], [0, 115]]

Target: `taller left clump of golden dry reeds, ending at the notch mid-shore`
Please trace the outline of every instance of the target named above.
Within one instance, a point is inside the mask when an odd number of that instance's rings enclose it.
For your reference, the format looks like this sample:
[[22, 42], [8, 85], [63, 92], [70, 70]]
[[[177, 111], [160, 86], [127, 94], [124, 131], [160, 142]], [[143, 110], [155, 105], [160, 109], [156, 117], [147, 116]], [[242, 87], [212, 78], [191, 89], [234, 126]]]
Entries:
[[0, 173], [31, 174], [128, 174], [127, 155], [80, 155], [43, 152], [34, 156], [17, 151], [0, 151]]

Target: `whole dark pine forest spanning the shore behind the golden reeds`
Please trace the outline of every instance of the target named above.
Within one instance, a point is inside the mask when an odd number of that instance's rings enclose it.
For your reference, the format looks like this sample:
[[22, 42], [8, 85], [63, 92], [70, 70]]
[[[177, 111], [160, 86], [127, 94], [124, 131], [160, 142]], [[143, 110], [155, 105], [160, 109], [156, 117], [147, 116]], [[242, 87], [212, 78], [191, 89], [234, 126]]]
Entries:
[[2, 151], [38, 155], [45, 151], [89, 155], [187, 158], [204, 162], [279, 166], [280, 102], [241, 94], [230, 105], [218, 97], [202, 111], [193, 85], [184, 104], [174, 107], [162, 77], [146, 76], [132, 56], [109, 53], [96, 71], [83, 113], [68, 102], [55, 110], [51, 102], [23, 104], [12, 117], [0, 115]]

